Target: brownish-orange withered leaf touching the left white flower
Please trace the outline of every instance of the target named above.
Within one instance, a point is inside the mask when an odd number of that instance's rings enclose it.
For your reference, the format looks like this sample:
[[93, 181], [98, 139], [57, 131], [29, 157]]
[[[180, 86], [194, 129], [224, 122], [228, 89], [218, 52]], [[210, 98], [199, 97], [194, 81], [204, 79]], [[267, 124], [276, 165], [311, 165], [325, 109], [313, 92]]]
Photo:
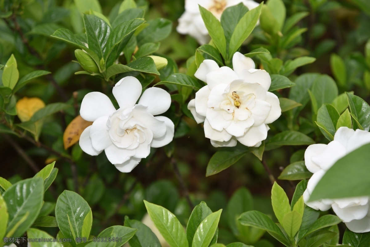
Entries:
[[87, 128], [91, 124], [92, 122], [84, 120], [80, 115], [75, 117], [75, 119], [73, 119], [71, 123], [68, 124], [67, 128], [65, 128], [63, 134], [64, 149], [67, 149], [73, 144], [77, 143], [77, 141], [80, 140], [82, 131], [84, 131], [85, 128]]

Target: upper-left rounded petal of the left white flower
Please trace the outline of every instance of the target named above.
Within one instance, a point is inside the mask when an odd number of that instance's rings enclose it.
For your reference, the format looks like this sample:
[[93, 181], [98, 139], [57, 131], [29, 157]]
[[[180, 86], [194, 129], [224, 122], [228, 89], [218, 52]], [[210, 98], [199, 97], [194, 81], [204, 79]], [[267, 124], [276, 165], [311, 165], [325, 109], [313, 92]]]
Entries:
[[95, 121], [99, 117], [109, 116], [115, 111], [112, 101], [103, 93], [91, 92], [81, 102], [80, 115], [86, 121]]

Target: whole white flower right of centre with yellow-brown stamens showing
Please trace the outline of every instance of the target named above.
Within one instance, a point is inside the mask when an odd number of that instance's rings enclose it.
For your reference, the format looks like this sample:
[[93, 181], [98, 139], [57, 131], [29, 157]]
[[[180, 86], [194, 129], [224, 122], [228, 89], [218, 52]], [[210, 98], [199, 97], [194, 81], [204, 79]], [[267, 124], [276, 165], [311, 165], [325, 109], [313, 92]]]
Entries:
[[269, 127], [281, 115], [277, 96], [268, 92], [269, 73], [255, 69], [249, 57], [237, 52], [233, 70], [204, 60], [195, 77], [207, 83], [188, 104], [197, 123], [204, 121], [205, 137], [215, 147], [233, 147], [238, 140], [245, 146], [258, 147], [266, 139]]

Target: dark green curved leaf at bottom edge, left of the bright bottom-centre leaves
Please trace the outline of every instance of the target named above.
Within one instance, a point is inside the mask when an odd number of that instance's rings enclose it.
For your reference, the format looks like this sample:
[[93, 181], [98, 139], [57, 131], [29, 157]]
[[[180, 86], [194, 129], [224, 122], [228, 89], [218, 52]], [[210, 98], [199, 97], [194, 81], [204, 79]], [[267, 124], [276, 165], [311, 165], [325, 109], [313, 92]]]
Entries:
[[161, 243], [152, 230], [140, 221], [130, 220], [128, 216], [125, 216], [125, 226], [138, 229], [135, 235], [128, 240], [131, 247], [161, 247]]

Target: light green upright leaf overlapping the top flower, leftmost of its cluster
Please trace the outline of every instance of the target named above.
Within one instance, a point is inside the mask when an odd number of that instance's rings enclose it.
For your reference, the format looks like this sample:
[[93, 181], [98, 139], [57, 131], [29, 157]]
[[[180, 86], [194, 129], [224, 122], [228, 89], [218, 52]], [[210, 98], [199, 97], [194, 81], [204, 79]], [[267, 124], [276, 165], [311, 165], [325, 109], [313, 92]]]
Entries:
[[208, 30], [209, 36], [212, 38], [213, 44], [222, 54], [223, 58], [226, 59], [226, 39], [225, 31], [223, 30], [221, 23], [217, 18], [208, 10], [199, 5], [199, 11], [201, 12], [202, 19]]

